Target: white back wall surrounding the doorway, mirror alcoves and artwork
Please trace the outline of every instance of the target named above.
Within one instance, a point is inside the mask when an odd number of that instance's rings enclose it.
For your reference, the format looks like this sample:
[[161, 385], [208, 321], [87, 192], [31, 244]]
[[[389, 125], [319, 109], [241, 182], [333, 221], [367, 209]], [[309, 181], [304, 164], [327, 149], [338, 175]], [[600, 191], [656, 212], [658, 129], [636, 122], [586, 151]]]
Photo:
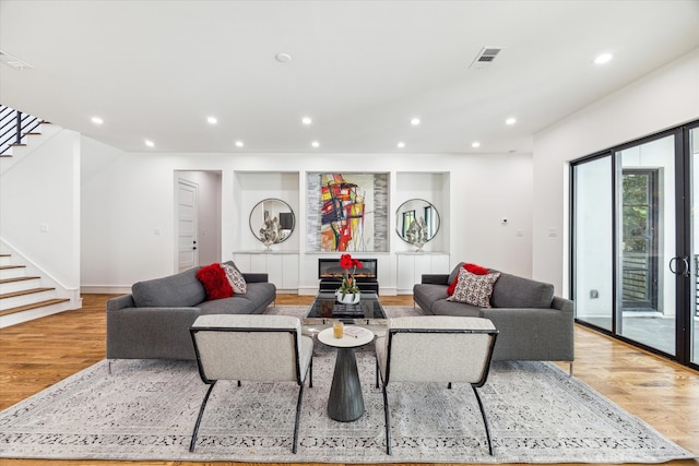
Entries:
[[[237, 172], [298, 172], [298, 249], [305, 254], [306, 172], [429, 171], [450, 172], [450, 208], [440, 212], [450, 225], [452, 266], [471, 261], [531, 276], [532, 163], [529, 154], [502, 155], [386, 155], [336, 154], [159, 154], [125, 153], [100, 143], [83, 144], [83, 284], [128, 290], [134, 282], [174, 272], [175, 170], [220, 170], [222, 174], [222, 260], [240, 249], [251, 236], [249, 212], [236, 205], [241, 187]], [[393, 177], [394, 178], [394, 177]], [[291, 202], [289, 202], [291, 203]], [[294, 207], [293, 203], [291, 203]], [[391, 200], [391, 214], [398, 207]], [[502, 226], [500, 218], [507, 216]], [[154, 235], [158, 229], [161, 235]], [[297, 232], [294, 232], [296, 236]], [[519, 235], [519, 236], [518, 236]], [[391, 230], [391, 244], [400, 241]], [[258, 247], [262, 248], [260, 243]], [[300, 285], [317, 285], [313, 263], [299, 261]], [[375, 254], [378, 255], [378, 254]], [[392, 263], [394, 256], [388, 254]], [[394, 265], [391, 265], [394, 268]], [[449, 271], [445, 271], [449, 272]], [[395, 274], [387, 279], [395, 286]]]

